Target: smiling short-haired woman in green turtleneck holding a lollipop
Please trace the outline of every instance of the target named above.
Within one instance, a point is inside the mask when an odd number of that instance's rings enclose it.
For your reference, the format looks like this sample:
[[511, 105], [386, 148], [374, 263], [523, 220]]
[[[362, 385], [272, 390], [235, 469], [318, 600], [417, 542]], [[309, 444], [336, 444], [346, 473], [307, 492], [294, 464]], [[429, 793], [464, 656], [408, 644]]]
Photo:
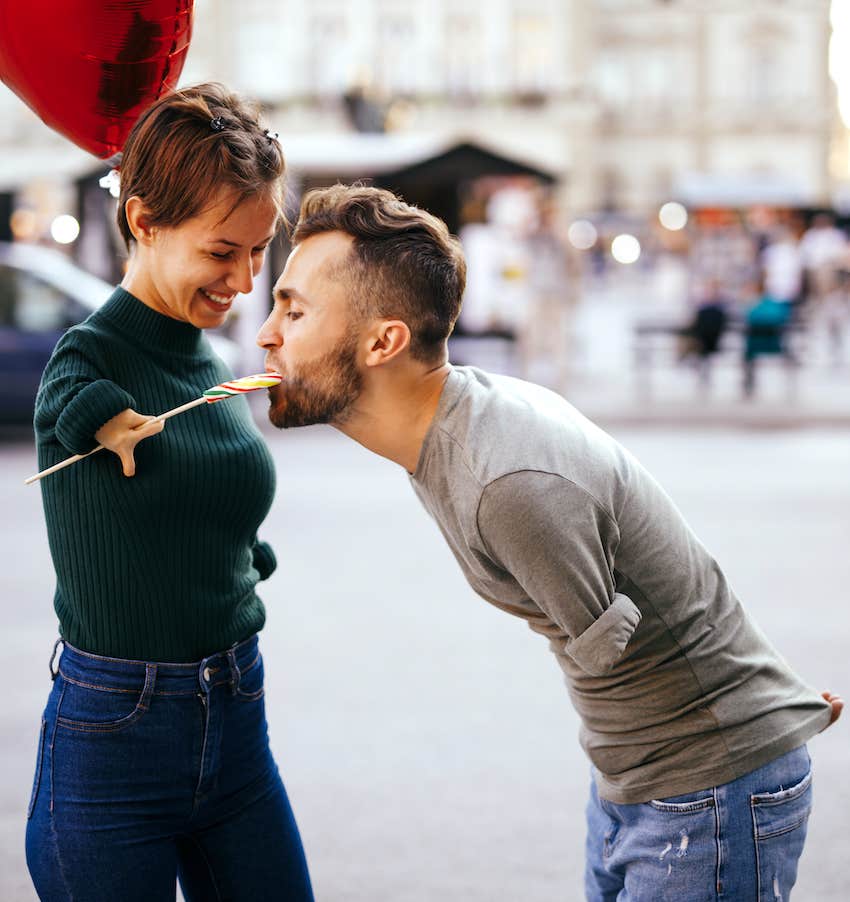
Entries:
[[40, 466], [120, 458], [41, 483], [63, 645], [27, 828], [44, 900], [173, 900], [177, 876], [189, 902], [312, 899], [257, 651], [271, 457], [244, 399], [150, 421], [231, 377], [202, 330], [251, 290], [283, 169], [221, 86], [155, 103], [122, 160], [126, 277], [42, 379]]

